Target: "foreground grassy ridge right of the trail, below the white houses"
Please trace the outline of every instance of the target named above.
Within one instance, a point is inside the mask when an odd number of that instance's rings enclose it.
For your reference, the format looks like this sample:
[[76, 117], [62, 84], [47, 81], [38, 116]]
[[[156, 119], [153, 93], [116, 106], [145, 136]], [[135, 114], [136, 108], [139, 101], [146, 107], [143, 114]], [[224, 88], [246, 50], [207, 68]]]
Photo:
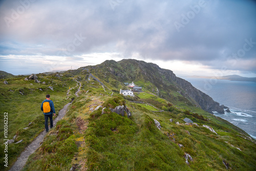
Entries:
[[[238, 136], [242, 134], [221, 118], [207, 113], [204, 116], [216, 120], [194, 117], [177, 108], [151, 112], [126, 97], [109, 95], [97, 82], [94, 86], [98, 88], [90, 87], [91, 83], [84, 83], [84, 91], [30, 156], [24, 170], [226, 170], [222, 161], [232, 170], [255, 168], [255, 143]], [[132, 112], [130, 118], [109, 110], [109, 106], [115, 108], [124, 102]], [[107, 107], [103, 114], [102, 108], [92, 110], [98, 105]], [[199, 126], [175, 123], [185, 123], [185, 117]], [[153, 119], [160, 122], [161, 130]], [[212, 126], [218, 135], [203, 124]], [[193, 158], [189, 164], [185, 163], [185, 153]]]

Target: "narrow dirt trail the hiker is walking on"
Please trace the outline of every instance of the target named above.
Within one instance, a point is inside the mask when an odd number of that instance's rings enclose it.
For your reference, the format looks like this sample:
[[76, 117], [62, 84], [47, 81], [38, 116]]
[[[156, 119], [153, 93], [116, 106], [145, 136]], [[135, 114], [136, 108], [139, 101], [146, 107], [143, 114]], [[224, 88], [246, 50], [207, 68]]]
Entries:
[[[78, 81], [77, 81], [78, 82]], [[80, 91], [81, 88], [81, 82], [79, 82], [79, 88], [76, 91], [75, 95], [78, 97], [78, 92]], [[68, 104], [66, 104], [58, 113], [58, 116], [53, 120], [53, 125], [55, 126], [56, 123], [63, 118], [63, 116], [66, 115], [68, 106], [71, 104], [72, 102], [69, 102]], [[26, 148], [25, 151], [22, 152], [22, 154], [20, 154], [20, 156], [18, 157], [18, 159], [16, 160], [16, 162], [14, 163], [14, 165], [12, 166], [12, 168], [10, 169], [10, 171], [20, 171], [23, 169], [23, 167], [25, 166], [29, 156], [31, 154], [33, 154], [36, 149], [40, 146], [40, 143], [44, 140], [44, 137], [46, 136], [46, 131], [42, 131], [36, 138], [34, 141], [32, 141]]]

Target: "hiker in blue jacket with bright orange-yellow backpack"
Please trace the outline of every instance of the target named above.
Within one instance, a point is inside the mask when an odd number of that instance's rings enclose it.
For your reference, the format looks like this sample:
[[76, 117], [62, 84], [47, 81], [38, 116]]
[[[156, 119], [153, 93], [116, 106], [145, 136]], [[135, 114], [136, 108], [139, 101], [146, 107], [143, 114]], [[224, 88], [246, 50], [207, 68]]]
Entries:
[[45, 115], [45, 127], [46, 127], [46, 132], [48, 133], [48, 117], [50, 118], [50, 129], [53, 127], [53, 120], [52, 120], [52, 114], [55, 116], [55, 109], [54, 109], [54, 104], [52, 100], [50, 100], [50, 95], [46, 95], [46, 99], [42, 101], [41, 104], [41, 111], [44, 112]]

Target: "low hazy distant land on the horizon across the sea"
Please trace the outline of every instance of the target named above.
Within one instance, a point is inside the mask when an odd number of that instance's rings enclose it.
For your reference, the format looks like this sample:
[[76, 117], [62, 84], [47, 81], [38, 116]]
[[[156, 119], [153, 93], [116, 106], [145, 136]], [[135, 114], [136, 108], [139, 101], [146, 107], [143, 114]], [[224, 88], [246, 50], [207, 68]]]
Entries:
[[240, 75], [226, 75], [221, 77], [215, 77], [215, 76], [189, 76], [191, 78], [208, 78], [208, 79], [225, 79], [225, 80], [231, 80], [231, 81], [250, 81], [250, 82], [256, 82], [256, 77], [242, 77]]

